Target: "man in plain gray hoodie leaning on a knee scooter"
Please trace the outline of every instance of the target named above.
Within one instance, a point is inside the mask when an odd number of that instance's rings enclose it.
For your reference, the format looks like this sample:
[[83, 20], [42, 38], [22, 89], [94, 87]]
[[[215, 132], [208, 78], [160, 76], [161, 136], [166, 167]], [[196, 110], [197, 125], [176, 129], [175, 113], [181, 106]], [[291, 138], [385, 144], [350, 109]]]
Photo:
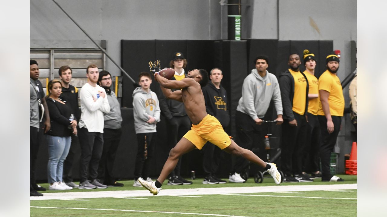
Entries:
[[[264, 118], [270, 101], [274, 101], [277, 111], [277, 124], [282, 124], [282, 101], [278, 80], [266, 69], [269, 67], [267, 56], [255, 58], [255, 69], [251, 70], [243, 81], [242, 97], [239, 100], [235, 114], [236, 136], [238, 144], [248, 150], [253, 148], [254, 133], [261, 134], [262, 119]], [[263, 138], [263, 135], [262, 135]], [[248, 161], [236, 158], [233, 171], [229, 176], [230, 182], [243, 183], [240, 173], [248, 168]], [[248, 177], [246, 177], [248, 178]]]

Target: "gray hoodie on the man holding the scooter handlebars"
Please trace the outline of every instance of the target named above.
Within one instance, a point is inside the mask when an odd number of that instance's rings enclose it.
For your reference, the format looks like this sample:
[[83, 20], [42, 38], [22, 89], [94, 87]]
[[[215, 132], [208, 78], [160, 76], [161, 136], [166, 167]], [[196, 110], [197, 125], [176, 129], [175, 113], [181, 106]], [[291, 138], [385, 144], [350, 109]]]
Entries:
[[266, 70], [262, 78], [257, 69], [253, 69], [243, 81], [242, 97], [236, 110], [250, 115], [252, 119], [262, 118], [271, 100], [274, 101], [277, 115], [282, 115], [281, 92], [276, 76]]

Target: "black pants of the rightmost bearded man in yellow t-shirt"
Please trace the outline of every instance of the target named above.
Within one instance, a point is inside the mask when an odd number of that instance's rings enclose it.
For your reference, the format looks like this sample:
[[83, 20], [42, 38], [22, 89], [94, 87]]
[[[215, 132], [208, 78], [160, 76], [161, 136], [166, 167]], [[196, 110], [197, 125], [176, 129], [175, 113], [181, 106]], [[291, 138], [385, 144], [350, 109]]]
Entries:
[[332, 115], [332, 122], [334, 130], [331, 134], [328, 133], [327, 129], [327, 118], [324, 115], [318, 115], [321, 129], [321, 147], [320, 147], [320, 159], [321, 159], [321, 172], [322, 180], [330, 180], [332, 174], [330, 174], [330, 154], [333, 152], [335, 147], [337, 136], [340, 132], [341, 117]]

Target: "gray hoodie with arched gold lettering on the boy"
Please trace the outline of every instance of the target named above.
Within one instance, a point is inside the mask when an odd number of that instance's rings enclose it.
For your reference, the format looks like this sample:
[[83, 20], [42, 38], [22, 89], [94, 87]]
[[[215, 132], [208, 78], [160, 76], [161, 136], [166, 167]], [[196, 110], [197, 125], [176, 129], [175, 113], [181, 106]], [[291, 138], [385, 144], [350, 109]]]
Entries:
[[[133, 91], [133, 115], [134, 129], [136, 134], [146, 132], [156, 132], [156, 123], [160, 122], [160, 105], [156, 93], [149, 89], [149, 93], [137, 87]], [[148, 124], [149, 116], [154, 117], [156, 121]]]

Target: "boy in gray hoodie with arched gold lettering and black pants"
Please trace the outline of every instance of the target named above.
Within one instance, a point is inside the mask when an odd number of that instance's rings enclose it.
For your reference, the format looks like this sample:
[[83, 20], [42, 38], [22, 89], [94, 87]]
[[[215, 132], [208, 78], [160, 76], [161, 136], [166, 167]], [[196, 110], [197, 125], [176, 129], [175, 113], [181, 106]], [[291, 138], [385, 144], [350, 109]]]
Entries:
[[150, 89], [152, 83], [151, 74], [141, 72], [139, 85], [133, 91], [133, 115], [134, 129], [137, 134], [137, 156], [134, 170], [133, 186], [141, 187], [138, 178], [152, 181], [149, 178], [149, 166], [156, 143], [156, 123], [160, 121], [160, 106], [156, 93]]

